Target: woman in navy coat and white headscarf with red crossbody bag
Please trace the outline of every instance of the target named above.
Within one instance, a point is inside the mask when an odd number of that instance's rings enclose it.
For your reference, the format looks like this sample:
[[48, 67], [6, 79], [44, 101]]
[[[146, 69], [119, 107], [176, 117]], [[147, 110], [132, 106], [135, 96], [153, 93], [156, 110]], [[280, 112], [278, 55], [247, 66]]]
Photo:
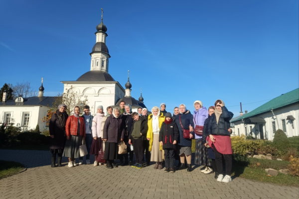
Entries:
[[[185, 104], [180, 104], [178, 106], [179, 114], [175, 116], [175, 123], [179, 130], [179, 156], [180, 156], [180, 166], [179, 170], [185, 169], [185, 158], [187, 160], [187, 172], [192, 171], [191, 167], [191, 139], [194, 137], [194, 132], [190, 131], [190, 126], [194, 126], [193, 115], [187, 110]], [[184, 138], [184, 131], [189, 131], [189, 137]]]

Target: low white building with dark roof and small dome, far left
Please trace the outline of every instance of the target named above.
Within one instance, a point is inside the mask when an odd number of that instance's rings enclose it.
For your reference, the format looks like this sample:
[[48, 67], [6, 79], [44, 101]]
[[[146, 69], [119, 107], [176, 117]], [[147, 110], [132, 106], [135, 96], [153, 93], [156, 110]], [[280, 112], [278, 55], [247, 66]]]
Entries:
[[55, 97], [44, 97], [44, 88], [41, 84], [37, 97], [6, 100], [6, 93], [0, 102], [0, 123], [13, 123], [20, 126], [22, 131], [35, 129], [39, 125], [39, 130], [47, 130], [46, 122], [42, 119], [47, 115], [47, 111], [52, 107]]

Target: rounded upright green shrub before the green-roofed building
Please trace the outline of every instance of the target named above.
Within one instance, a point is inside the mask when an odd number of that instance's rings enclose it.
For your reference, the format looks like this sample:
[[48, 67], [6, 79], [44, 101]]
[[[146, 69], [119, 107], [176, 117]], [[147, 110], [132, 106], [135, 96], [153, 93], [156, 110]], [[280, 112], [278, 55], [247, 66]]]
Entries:
[[277, 148], [280, 153], [279, 155], [284, 155], [287, 153], [291, 145], [286, 133], [283, 130], [278, 129], [275, 132], [273, 146]]

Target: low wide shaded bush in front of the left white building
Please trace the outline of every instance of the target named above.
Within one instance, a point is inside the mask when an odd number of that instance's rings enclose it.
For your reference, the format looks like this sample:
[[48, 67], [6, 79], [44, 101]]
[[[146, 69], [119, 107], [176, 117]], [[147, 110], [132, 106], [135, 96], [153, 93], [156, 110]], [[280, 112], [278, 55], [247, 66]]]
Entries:
[[39, 133], [32, 132], [23, 132], [17, 136], [17, 139], [21, 142], [21, 144], [47, 144], [48, 138], [45, 135]]

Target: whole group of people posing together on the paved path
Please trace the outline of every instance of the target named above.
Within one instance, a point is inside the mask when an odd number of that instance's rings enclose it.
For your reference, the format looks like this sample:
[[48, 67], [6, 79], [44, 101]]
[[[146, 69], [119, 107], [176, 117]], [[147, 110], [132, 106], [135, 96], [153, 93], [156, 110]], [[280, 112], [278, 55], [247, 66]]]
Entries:
[[[85, 105], [80, 116], [80, 107], [75, 106], [73, 115], [66, 113], [66, 105], [60, 104], [49, 123], [51, 136], [51, 167], [61, 166], [61, 157], [68, 157], [68, 167], [83, 164], [79, 147], [86, 144], [88, 155], [86, 164], [91, 164], [90, 155], [95, 156], [94, 166], [99, 163], [98, 155], [104, 151], [106, 167], [130, 165], [142, 169], [154, 163], [153, 169], [163, 169], [174, 173], [176, 170], [192, 171], [191, 145], [195, 139], [194, 164], [204, 167], [201, 172], [215, 172], [218, 182], [231, 182], [232, 148], [230, 139], [230, 119], [222, 100], [216, 100], [208, 109], [200, 100], [194, 101], [194, 112], [187, 110], [185, 104], [175, 107], [173, 114], [166, 111], [166, 104], [151, 108], [138, 108], [132, 112], [130, 104], [120, 102], [120, 107], [97, 107], [92, 116], [90, 107]], [[127, 152], [119, 154], [120, 143], [127, 145]], [[135, 158], [134, 158], [135, 157]], [[179, 164], [176, 164], [178, 160]], [[223, 164], [224, 163], [224, 164]], [[224, 171], [225, 170], [225, 171]]]

